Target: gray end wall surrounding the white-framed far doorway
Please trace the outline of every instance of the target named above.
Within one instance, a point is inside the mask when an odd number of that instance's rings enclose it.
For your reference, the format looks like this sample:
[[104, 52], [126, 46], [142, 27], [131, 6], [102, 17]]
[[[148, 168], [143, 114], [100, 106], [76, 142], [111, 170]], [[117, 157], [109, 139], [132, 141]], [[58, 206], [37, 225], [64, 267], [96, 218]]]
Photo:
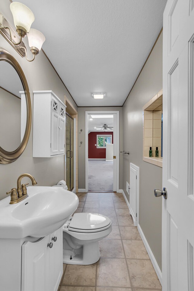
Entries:
[[[122, 107], [78, 107], [78, 188], [85, 189], [85, 111], [119, 111], [119, 189], [122, 189]], [[83, 129], [80, 132], [80, 129]], [[80, 142], [83, 142], [80, 145]]]

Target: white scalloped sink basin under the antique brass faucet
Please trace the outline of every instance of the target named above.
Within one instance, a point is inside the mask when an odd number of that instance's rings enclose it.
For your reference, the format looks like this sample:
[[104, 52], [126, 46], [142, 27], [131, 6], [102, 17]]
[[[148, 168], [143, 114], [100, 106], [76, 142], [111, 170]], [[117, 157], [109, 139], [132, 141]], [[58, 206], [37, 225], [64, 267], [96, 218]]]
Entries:
[[47, 236], [59, 229], [77, 209], [75, 193], [60, 187], [29, 186], [28, 197], [9, 204], [10, 196], [0, 201], [0, 238], [20, 239]]

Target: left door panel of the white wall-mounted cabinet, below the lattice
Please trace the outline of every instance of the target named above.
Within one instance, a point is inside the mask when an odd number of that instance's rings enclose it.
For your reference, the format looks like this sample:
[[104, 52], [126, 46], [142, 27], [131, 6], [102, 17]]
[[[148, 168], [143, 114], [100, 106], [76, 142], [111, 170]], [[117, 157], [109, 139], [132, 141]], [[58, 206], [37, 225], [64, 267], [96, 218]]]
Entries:
[[51, 156], [59, 153], [59, 115], [52, 112], [51, 117]]

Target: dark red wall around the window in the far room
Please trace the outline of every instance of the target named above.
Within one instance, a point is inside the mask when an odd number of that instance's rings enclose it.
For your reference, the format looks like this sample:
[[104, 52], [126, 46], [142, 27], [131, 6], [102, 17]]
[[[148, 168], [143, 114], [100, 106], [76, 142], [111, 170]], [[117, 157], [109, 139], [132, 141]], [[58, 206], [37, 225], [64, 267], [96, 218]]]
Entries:
[[88, 158], [89, 159], [105, 159], [106, 158], [106, 149], [98, 149], [95, 145], [97, 144], [97, 135], [112, 135], [112, 143], [113, 143], [113, 132], [90, 132], [88, 135]]

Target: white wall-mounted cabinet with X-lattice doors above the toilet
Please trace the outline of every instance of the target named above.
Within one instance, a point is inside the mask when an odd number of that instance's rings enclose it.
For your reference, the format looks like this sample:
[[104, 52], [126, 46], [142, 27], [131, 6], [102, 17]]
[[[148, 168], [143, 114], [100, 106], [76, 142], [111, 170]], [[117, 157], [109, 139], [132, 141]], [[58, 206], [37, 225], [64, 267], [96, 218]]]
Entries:
[[66, 105], [52, 91], [33, 93], [33, 157], [64, 155]]

